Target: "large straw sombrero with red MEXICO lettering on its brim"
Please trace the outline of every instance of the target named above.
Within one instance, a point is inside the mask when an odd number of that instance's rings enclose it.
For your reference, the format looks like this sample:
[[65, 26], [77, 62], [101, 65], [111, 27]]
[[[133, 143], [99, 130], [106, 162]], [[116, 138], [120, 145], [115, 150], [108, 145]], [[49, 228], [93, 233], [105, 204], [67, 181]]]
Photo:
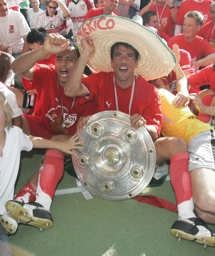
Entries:
[[83, 36], [91, 36], [95, 44], [87, 63], [95, 72], [113, 71], [110, 49], [116, 42], [126, 42], [138, 51], [140, 60], [134, 72], [146, 80], [168, 75], [175, 66], [175, 55], [167, 44], [155, 32], [127, 18], [100, 15], [83, 22], [77, 34], [80, 53]]

